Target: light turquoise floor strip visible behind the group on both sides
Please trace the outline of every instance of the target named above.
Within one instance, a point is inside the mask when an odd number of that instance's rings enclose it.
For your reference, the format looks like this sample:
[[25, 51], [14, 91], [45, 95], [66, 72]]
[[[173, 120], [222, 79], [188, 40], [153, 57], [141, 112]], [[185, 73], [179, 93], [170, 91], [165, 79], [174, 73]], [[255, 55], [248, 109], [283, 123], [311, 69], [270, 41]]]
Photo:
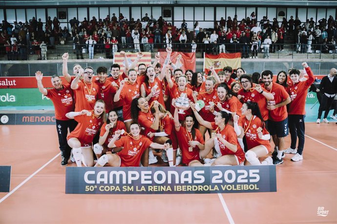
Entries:
[[[317, 103], [315, 106], [314, 104], [306, 104], [305, 105], [305, 111], [307, 112], [305, 121], [306, 122], [316, 122], [317, 120], [317, 113], [318, 113], [319, 104]], [[42, 111], [53, 111], [54, 106], [7, 106], [7, 107], [0, 107], [1, 111], [38, 111], [41, 113]], [[331, 110], [329, 112], [328, 120], [330, 122], [334, 122], [337, 120], [334, 120], [330, 117], [332, 115], [333, 111]], [[324, 112], [323, 112], [324, 114]], [[323, 117], [322, 117], [323, 118]]]

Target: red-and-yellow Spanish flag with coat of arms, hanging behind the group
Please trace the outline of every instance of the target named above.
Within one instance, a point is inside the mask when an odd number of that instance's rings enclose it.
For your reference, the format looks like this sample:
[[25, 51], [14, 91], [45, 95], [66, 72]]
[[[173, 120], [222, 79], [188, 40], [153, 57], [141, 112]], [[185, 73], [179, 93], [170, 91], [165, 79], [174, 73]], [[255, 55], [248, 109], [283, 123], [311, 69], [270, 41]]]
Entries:
[[204, 71], [208, 74], [209, 67], [213, 66], [215, 72], [222, 71], [226, 66], [231, 66], [232, 69], [237, 69], [241, 67], [241, 53], [231, 53], [225, 54], [220, 53], [219, 55], [209, 55], [204, 56]]

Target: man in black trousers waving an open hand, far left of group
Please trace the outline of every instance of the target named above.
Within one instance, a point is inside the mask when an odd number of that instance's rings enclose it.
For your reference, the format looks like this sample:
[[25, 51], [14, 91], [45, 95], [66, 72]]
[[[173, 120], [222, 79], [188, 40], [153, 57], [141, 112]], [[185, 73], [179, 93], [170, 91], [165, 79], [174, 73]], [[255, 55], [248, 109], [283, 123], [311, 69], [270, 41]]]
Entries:
[[67, 134], [73, 131], [77, 125], [74, 119], [69, 119], [65, 116], [67, 112], [72, 112], [75, 109], [74, 93], [70, 85], [62, 84], [62, 79], [58, 75], [51, 76], [53, 89], [45, 89], [42, 84], [43, 74], [40, 71], [35, 73], [38, 82], [40, 93], [50, 98], [55, 108], [56, 128], [59, 137], [60, 150], [62, 151], [61, 166], [68, 164], [71, 148], [67, 143]]

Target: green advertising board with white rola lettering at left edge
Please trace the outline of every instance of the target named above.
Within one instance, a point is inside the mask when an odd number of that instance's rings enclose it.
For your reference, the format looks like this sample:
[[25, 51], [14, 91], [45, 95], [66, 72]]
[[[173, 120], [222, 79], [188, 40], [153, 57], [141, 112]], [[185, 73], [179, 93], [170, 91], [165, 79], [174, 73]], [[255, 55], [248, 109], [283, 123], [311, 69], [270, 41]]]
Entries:
[[35, 89], [0, 89], [0, 106], [51, 106], [51, 100]]

